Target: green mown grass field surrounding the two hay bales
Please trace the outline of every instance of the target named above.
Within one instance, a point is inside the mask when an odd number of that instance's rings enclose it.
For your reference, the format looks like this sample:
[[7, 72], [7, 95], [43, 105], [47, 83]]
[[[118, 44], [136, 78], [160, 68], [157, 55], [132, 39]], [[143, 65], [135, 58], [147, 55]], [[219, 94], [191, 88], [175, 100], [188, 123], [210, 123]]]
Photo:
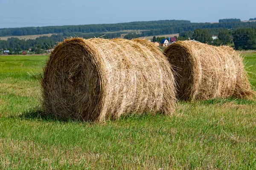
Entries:
[[[47, 56], [0, 56], [0, 169], [256, 169], [256, 101], [178, 102], [173, 116], [40, 117]], [[256, 53], [246, 54], [256, 86]]]

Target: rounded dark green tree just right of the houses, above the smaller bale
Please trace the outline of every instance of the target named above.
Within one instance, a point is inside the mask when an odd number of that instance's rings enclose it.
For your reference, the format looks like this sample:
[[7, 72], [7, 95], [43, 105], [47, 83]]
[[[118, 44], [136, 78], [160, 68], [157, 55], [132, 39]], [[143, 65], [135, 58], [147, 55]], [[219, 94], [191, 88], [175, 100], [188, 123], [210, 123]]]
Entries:
[[212, 42], [212, 36], [210, 35], [208, 29], [195, 29], [192, 38], [203, 43]]

